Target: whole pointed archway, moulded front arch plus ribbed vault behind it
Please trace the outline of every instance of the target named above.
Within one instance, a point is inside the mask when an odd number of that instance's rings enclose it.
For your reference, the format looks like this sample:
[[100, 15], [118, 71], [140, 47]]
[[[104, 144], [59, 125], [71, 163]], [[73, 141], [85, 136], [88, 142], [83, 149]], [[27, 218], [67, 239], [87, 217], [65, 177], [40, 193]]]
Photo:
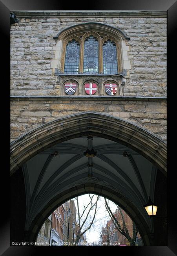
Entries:
[[[97, 151], [92, 167], [83, 154], [89, 134]], [[55, 151], [58, 156], [53, 155]], [[24, 173], [28, 240], [35, 240], [57, 206], [78, 195], [95, 193], [125, 210], [144, 245], [151, 245], [153, 226], [143, 205], [150, 193], [154, 196], [158, 169], [166, 174], [166, 145], [147, 130], [106, 114], [69, 115], [12, 143], [11, 159], [11, 174], [20, 166]], [[90, 172], [93, 175], [88, 176]]]

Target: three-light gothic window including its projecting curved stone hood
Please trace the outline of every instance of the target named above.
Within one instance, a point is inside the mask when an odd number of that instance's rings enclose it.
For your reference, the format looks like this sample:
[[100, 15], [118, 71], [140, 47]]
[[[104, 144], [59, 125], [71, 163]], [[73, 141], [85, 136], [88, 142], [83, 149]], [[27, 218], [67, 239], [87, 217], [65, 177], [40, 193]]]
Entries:
[[56, 47], [60, 54], [56, 60], [61, 59], [60, 73], [121, 74], [125, 66], [130, 66], [128, 59], [123, 59], [128, 48], [125, 40], [130, 38], [111, 26], [96, 22], [78, 24], [66, 28], [55, 39], [60, 40]]

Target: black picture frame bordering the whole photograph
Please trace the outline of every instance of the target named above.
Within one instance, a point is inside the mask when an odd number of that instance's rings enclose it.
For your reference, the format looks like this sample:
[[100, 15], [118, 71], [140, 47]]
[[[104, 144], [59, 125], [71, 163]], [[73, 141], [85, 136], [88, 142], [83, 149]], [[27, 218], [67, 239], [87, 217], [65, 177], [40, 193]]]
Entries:
[[[5, 138], [5, 143], [1, 145], [1, 163], [4, 163], [4, 167], [1, 169], [1, 176], [3, 176], [2, 181], [6, 186], [3, 188], [2, 197], [1, 197], [1, 211], [3, 213], [1, 227], [0, 227], [0, 252], [2, 256], [9, 255], [39, 255], [41, 251], [44, 250], [44, 247], [10, 247], [9, 246], [9, 13], [11, 10], [38, 10], [38, 9], [58, 9], [58, 10], [67, 10], [68, 2], [60, 3], [58, 0], [43, 0], [43, 1], [24, 1], [24, 0], [2, 0], [0, 2], [0, 28], [1, 28], [1, 43], [2, 48], [6, 57], [1, 58], [2, 65], [2, 78], [5, 78], [5, 82], [1, 84], [1, 96], [2, 96], [2, 122], [3, 125], [0, 127], [2, 132], [2, 137]], [[79, 2], [74, 2], [69, 4], [69, 9], [73, 10], [105, 10], [105, 9], [117, 9], [117, 10], [167, 10], [168, 11], [168, 246], [152, 246], [152, 247], [104, 247], [104, 252], [110, 253], [112, 250], [117, 249], [118, 253], [124, 253], [123, 250], [126, 250], [126, 253], [136, 254], [136, 255], [156, 255], [156, 256], [173, 256], [177, 255], [177, 225], [176, 225], [176, 214], [175, 214], [175, 150], [173, 150], [176, 125], [175, 125], [175, 35], [176, 35], [176, 24], [177, 24], [177, 2], [175, 0], [150, 0], [150, 1], [89, 1], [86, 6], [80, 6]], [[173, 60], [175, 61], [173, 63]], [[173, 81], [172, 81], [173, 79]], [[159, 234], [160, 236], [160, 234]], [[75, 254], [76, 251], [87, 255], [90, 253], [100, 253], [103, 248], [100, 247], [80, 247], [80, 248], [60, 248], [60, 253], [70, 253]], [[47, 250], [47, 251], [46, 251]], [[51, 250], [57, 250], [59, 248], [53, 247], [46, 248], [45, 252], [51, 253]], [[105, 251], [106, 250], [106, 251]]]

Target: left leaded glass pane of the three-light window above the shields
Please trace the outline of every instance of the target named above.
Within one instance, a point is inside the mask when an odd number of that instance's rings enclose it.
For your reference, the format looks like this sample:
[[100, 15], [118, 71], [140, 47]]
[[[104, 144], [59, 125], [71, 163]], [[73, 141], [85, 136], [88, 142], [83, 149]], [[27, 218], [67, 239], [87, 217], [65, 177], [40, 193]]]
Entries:
[[65, 74], [78, 74], [80, 58], [80, 45], [75, 39], [69, 41], [66, 45], [66, 57], [64, 65]]

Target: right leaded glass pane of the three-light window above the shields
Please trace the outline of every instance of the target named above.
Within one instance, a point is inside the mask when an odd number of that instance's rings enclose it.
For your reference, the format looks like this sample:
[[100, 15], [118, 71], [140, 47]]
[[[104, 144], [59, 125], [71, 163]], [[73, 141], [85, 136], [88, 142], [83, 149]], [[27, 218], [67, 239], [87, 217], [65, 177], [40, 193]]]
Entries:
[[117, 74], [116, 45], [109, 39], [103, 45], [103, 74]]

